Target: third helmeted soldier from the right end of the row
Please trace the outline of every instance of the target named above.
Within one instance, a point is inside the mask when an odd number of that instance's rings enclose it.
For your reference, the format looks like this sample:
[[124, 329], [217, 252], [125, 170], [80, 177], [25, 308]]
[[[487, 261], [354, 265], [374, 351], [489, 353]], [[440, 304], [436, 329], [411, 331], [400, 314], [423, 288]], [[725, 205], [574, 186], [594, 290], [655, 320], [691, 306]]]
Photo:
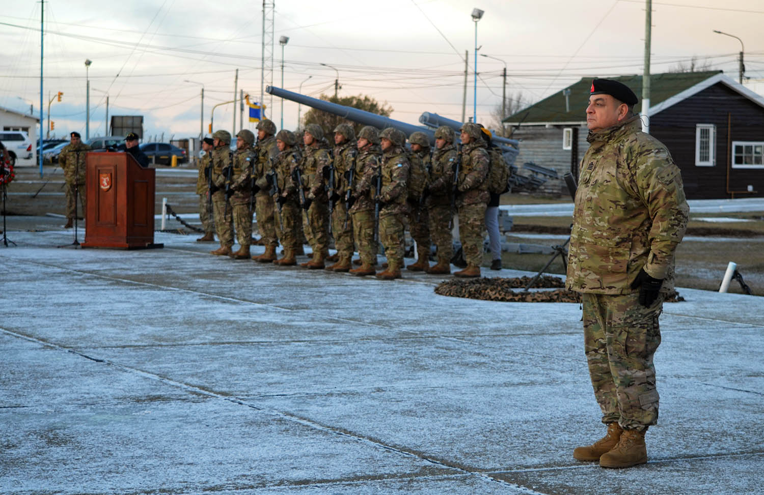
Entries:
[[411, 143], [408, 190], [409, 232], [416, 241], [416, 263], [406, 266], [412, 272], [429, 269], [429, 216], [425, 204], [425, 191], [429, 184], [430, 143], [426, 133], [416, 131], [409, 137]]

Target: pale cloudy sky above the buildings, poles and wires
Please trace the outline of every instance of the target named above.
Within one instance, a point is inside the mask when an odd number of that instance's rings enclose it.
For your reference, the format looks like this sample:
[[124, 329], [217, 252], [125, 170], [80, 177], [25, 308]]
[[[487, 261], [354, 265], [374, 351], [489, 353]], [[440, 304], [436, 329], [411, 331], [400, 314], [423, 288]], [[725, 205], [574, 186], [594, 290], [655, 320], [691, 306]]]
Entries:
[[[324, 0], [275, 2], [273, 84], [315, 96], [371, 95], [393, 108], [393, 118], [416, 124], [423, 111], [461, 120], [468, 52], [466, 115], [477, 100], [478, 121], [488, 122], [507, 95], [539, 101], [581, 77], [643, 72], [644, 0]], [[225, 5], [225, 7], [223, 7]], [[131, 0], [44, 2], [44, 89], [63, 92], [50, 105], [57, 135], [85, 132], [86, 67], [90, 79], [90, 136], [105, 132], [109, 114], [144, 115], [148, 138], [199, 135], [200, 90], [205, 88], [204, 128], [213, 105], [238, 88], [260, 99], [262, 2]], [[40, 114], [40, 2], [0, 0], [0, 106]], [[475, 24], [478, 22], [478, 88], [474, 96]], [[761, 0], [662, 0], [652, 2], [651, 72], [680, 66], [721, 69], [737, 79], [740, 41], [745, 43], [746, 85], [764, 93], [764, 3]], [[327, 66], [322, 66], [326, 64]], [[331, 66], [328, 67], [328, 66]], [[336, 72], [335, 72], [336, 71]], [[268, 72], [266, 72], [268, 73]], [[193, 81], [193, 82], [186, 82]], [[270, 84], [266, 81], [266, 85]], [[270, 117], [280, 126], [280, 100]], [[302, 112], [307, 110], [303, 106]], [[241, 127], [237, 110], [236, 127]], [[297, 127], [297, 104], [283, 104], [283, 124]], [[233, 104], [215, 109], [215, 129], [231, 130]], [[244, 123], [251, 128], [254, 124]]]

